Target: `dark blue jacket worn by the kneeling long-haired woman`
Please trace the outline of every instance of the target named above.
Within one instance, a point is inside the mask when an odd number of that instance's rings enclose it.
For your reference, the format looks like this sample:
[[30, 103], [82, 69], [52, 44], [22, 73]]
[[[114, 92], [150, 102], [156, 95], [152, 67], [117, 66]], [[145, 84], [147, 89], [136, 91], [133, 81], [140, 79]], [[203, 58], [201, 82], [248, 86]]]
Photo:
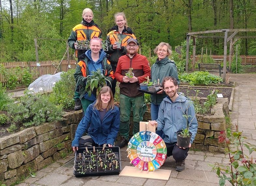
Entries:
[[95, 102], [87, 107], [83, 119], [78, 124], [72, 147], [79, 146], [78, 140], [83, 136], [89, 123], [88, 135], [92, 137], [96, 144], [114, 144], [120, 125], [119, 108], [115, 106], [114, 109], [109, 110], [101, 123], [99, 111], [93, 108], [94, 104]]

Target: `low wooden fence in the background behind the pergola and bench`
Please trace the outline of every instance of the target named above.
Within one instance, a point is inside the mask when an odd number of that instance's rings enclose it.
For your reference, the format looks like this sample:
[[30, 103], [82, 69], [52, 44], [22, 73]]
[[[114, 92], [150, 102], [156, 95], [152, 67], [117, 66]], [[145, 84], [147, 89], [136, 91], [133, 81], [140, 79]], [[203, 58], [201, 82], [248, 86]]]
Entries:
[[[213, 59], [224, 59], [224, 55], [211, 55], [211, 57]], [[231, 56], [231, 61], [233, 59], [233, 57], [235, 58], [235, 55]], [[256, 65], [256, 56], [245, 56], [245, 55], [240, 55], [240, 57], [242, 58], [242, 65], [247, 65], [247, 64], [251, 64], [251, 65]], [[190, 59], [193, 59], [193, 56], [190, 57]], [[196, 62], [201, 62], [201, 55], [196, 55]], [[227, 63], [229, 62], [229, 55], [227, 55]]]

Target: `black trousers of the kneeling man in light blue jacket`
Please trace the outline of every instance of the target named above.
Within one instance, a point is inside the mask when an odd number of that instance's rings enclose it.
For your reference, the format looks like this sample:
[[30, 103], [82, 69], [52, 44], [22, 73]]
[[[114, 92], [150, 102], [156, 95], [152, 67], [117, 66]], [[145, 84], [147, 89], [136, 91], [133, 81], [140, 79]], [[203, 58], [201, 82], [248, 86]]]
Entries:
[[178, 145], [176, 145], [176, 143], [174, 145], [170, 143], [165, 143], [165, 145], [167, 149], [167, 156], [168, 157], [173, 156], [173, 159], [176, 162], [182, 162], [188, 156], [189, 148], [186, 148], [186, 149], [179, 148]]

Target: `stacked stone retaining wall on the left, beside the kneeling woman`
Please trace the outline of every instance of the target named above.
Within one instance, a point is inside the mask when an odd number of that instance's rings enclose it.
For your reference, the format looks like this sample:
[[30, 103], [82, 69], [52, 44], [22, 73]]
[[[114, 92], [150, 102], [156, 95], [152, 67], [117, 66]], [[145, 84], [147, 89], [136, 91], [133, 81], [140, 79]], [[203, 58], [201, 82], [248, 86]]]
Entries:
[[[0, 138], [0, 181], [7, 186], [40, 170], [68, 153], [82, 110], [66, 113], [57, 122], [44, 123]], [[65, 138], [68, 136], [68, 140]]]

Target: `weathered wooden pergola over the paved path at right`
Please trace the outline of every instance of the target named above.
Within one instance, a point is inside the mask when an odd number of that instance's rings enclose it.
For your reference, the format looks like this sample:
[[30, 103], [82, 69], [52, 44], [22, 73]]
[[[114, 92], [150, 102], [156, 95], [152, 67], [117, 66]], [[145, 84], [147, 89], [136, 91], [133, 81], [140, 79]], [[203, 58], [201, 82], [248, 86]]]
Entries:
[[[207, 30], [200, 32], [187, 33], [187, 49], [186, 49], [186, 72], [188, 73], [188, 59], [189, 59], [189, 41], [193, 38], [193, 67], [195, 70], [195, 56], [196, 56], [196, 38], [224, 38], [224, 64], [223, 64], [223, 80], [226, 80], [226, 64], [227, 64], [227, 44], [230, 42], [230, 49], [234, 43], [240, 38], [256, 38], [256, 36], [235, 36], [238, 32], [256, 32], [256, 29], [219, 29], [219, 30]], [[201, 36], [201, 34], [212, 33], [224, 33], [224, 36]], [[234, 39], [234, 40], [233, 40]], [[229, 56], [231, 56], [231, 50], [229, 50]], [[229, 70], [231, 67], [231, 57], [229, 58]]]

